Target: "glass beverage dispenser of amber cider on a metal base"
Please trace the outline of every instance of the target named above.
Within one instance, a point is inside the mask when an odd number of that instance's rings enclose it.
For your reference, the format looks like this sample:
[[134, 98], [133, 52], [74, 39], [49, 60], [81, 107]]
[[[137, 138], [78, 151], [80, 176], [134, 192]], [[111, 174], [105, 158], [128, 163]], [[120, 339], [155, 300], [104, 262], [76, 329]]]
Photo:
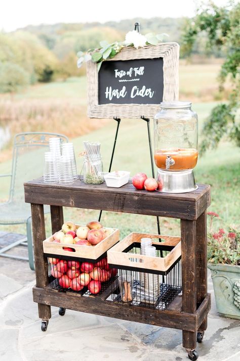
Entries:
[[154, 117], [154, 160], [158, 190], [184, 193], [197, 189], [197, 115], [189, 102], [161, 103]]

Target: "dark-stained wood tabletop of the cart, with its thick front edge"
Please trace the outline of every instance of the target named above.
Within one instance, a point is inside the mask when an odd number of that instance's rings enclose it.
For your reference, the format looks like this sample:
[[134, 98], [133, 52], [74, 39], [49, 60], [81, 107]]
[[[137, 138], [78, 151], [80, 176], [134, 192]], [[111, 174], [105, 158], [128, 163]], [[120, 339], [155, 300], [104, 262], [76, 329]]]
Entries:
[[24, 183], [25, 202], [65, 207], [102, 209], [194, 220], [210, 205], [210, 186], [198, 184], [188, 193], [137, 190], [131, 181], [120, 188], [85, 184], [46, 184], [43, 177]]

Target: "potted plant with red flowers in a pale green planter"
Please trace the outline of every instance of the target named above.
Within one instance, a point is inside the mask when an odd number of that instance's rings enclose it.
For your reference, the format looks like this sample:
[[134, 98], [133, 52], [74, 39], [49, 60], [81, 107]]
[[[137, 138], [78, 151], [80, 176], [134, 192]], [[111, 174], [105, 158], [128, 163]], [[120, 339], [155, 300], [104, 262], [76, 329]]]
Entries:
[[221, 316], [240, 319], [240, 231], [229, 227], [213, 232], [213, 219], [209, 212], [208, 268], [211, 270], [217, 310]]

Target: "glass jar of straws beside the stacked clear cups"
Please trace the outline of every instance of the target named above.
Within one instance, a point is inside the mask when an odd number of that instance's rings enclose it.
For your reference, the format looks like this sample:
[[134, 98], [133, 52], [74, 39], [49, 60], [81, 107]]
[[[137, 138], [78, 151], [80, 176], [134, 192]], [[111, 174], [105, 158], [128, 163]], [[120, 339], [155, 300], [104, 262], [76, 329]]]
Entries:
[[84, 142], [84, 183], [103, 183], [103, 166], [100, 154], [100, 143]]

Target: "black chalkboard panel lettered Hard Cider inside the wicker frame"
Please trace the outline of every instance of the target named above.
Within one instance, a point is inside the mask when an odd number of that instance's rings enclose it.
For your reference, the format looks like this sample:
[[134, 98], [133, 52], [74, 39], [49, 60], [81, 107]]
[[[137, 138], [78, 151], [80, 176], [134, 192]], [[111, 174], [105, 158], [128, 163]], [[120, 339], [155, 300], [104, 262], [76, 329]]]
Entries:
[[98, 104], [160, 104], [163, 101], [163, 58], [113, 60], [98, 73]]

